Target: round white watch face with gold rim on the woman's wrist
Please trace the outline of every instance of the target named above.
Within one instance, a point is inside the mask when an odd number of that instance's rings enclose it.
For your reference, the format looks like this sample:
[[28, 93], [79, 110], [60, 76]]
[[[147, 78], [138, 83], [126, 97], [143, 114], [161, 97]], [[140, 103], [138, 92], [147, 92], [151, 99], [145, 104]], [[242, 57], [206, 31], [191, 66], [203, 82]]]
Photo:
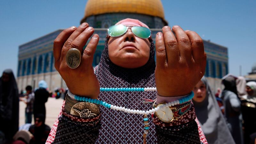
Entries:
[[173, 120], [173, 112], [171, 108], [165, 106], [164, 104], [158, 104], [156, 107], [159, 108], [155, 112], [159, 120], [164, 123], [170, 123]]

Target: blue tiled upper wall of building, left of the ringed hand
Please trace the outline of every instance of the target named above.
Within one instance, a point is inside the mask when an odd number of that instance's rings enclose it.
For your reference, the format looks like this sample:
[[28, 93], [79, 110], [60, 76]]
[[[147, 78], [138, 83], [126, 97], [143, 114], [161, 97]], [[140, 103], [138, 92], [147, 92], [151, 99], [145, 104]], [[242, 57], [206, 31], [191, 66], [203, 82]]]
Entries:
[[61, 31], [20, 45], [17, 77], [55, 71], [52, 47]]

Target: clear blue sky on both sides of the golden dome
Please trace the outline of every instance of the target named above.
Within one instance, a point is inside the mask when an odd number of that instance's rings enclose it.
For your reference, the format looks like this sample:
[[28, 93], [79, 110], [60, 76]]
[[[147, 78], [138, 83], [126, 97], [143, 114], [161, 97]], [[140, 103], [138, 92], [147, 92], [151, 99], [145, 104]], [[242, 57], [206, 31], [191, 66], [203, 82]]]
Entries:
[[[17, 73], [18, 47], [60, 28], [78, 26], [86, 0], [0, 0], [0, 75]], [[162, 0], [169, 26], [196, 31], [228, 47], [229, 72], [251, 72], [256, 63], [256, 1]]]

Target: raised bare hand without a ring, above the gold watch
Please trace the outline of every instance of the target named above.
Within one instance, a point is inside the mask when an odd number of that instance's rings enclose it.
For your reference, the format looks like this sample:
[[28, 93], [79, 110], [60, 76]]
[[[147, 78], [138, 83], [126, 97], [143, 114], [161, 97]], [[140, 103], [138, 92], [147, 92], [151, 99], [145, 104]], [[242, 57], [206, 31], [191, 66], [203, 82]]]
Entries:
[[202, 38], [179, 26], [156, 34], [156, 88], [161, 96], [190, 93], [204, 76], [206, 53]]

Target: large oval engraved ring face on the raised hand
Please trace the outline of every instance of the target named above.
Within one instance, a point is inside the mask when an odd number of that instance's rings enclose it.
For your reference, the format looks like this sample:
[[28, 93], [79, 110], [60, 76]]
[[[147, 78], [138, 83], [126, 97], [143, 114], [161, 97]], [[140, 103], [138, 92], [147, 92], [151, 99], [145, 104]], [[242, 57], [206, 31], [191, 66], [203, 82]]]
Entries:
[[66, 61], [69, 68], [77, 68], [81, 62], [81, 52], [76, 48], [68, 50]]

